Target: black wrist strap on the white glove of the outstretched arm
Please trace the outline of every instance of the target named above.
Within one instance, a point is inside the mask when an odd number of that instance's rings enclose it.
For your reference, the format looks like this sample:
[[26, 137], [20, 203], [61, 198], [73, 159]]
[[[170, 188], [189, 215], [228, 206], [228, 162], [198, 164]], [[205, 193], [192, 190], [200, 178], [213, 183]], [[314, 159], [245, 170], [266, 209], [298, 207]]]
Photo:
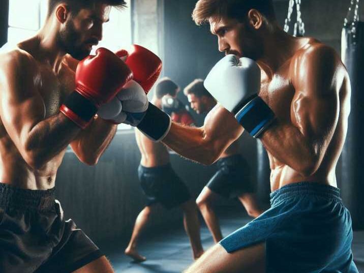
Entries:
[[171, 127], [171, 118], [149, 102], [148, 109], [137, 128], [153, 141], [161, 141]]

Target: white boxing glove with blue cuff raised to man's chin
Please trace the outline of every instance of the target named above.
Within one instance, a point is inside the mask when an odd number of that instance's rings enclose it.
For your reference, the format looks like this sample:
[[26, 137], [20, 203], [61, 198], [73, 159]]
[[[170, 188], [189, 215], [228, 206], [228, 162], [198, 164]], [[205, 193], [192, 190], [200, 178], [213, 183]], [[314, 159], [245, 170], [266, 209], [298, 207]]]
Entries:
[[226, 55], [208, 73], [204, 86], [255, 138], [275, 118], [269, 106], [258, 96], [260, 69], [252, 59]]

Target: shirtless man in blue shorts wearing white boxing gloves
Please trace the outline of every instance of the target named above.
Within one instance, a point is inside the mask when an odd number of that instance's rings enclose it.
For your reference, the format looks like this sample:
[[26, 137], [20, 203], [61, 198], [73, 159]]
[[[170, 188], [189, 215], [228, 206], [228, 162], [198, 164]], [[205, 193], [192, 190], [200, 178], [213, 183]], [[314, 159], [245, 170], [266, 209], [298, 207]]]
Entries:
[[199, 0], [193, 19], [210, 24], [226, 54], [204, 82], [219, 104], [201, 128], [171, 123], [151, 103], [134, 109], [145, 114], [133, 125], [203, 164], [247, 130], [268, 151], [272, 193], [270, 209], [187, 272], [358, 272], [335, 176], [351, 92], [340, 57], [313, 38], [285, 33], [272, 0]]

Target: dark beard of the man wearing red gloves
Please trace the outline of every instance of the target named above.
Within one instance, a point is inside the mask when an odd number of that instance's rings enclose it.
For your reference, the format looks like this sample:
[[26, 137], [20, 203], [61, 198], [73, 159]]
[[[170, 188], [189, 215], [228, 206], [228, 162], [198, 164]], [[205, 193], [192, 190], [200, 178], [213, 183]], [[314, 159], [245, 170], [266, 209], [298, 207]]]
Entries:
[[68, 21], [65, 29], [58, 33], [56, 39], [60, 48], [75, 59], [81, 60], [89, 55], [90, 50], [82, 48], [79, 38], [80, 34], [74, 28], [72, 21]]

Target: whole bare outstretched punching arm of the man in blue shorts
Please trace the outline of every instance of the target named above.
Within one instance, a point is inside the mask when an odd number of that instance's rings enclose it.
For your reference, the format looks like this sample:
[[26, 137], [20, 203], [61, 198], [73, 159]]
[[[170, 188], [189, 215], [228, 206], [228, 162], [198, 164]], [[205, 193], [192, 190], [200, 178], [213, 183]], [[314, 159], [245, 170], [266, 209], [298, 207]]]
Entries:
[[162, 142], [185, 158], [209, 165], [218, 160], [243, 131], [234, 116], [218, 104], [206, 116], [203, 127], [172, 123]]

